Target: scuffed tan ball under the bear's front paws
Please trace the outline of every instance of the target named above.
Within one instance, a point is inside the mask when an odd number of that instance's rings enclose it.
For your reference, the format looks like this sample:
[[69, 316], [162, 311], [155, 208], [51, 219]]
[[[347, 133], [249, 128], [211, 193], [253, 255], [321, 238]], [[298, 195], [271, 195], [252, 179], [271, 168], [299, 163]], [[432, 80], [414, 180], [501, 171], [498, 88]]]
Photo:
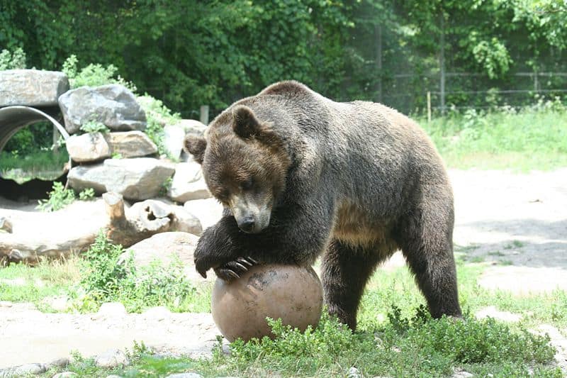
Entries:
[[323, 303], [322, 286], [311, 267], [256, 265], [230, 283], [217, 279], [213, 288], [213, 319], [230, 342], [237, 338], [273, 337], [266, 317], [305, 330], [317, 326]]

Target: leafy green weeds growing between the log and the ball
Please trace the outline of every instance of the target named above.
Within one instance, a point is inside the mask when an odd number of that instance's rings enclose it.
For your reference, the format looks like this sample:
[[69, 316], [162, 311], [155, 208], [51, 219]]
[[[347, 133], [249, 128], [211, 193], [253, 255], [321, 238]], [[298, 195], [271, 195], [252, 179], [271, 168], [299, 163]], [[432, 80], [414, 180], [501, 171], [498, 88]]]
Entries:
[[128, 311], [151, 306], [191, 309], [198, 305], [194, 301], [196, 289], [187, 281], [179, 259], [167, 266], [155, 260], [136, 269], [133, 255], [123, 258], [124, 252], [121, 245], [111, 243], [102, 231], [99, 233], [84, 254], [82, 279], [72, 293], [75, 308], [94, 311], [108, 301], [122, 302]]

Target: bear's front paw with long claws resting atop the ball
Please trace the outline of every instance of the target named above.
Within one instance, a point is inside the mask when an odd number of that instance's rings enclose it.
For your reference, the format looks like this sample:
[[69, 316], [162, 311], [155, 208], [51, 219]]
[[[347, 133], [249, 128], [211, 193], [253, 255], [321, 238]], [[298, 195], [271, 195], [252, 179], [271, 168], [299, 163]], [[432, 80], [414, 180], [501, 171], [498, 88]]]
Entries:
[[195, 267], [201, 276], [206, 278], [208, 269], [214, 269], [218, 277], [230, 281], [257, 264], [252, 257], [240, 255], [242, 250], [234, 243], [237, 233], [240, 230], [232, 216], [224, 216], [205, 230], [193, 253]]

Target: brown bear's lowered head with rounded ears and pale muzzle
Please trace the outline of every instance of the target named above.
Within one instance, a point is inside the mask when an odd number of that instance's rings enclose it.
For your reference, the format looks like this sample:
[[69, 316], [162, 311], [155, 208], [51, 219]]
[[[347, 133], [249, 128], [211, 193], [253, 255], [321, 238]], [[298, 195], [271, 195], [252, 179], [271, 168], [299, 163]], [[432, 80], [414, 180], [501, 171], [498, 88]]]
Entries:
[[187, 136], [184, 147], [202, 165], [211, 194], [230, 207], [242, 231], [259, 233], [269, 225], [290, 164], [271, 123], [237, 105], [211, 123], [206, 138]]

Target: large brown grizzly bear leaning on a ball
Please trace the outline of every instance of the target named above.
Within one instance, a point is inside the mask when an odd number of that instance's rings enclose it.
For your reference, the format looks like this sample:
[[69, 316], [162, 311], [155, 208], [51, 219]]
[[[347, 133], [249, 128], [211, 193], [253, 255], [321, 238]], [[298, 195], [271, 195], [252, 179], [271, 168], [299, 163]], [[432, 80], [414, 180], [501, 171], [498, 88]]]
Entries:
[[279, 82], [232, 104], [206, 138], [189, 136], [184, 146], [225, 206], [194, 252], [203, 277], [312, 265], [322, 255], [325, 303], [354, 330], [366, 282], [400, 249], [432, 316], [461, 316], [451, 185], [410, 118]]

